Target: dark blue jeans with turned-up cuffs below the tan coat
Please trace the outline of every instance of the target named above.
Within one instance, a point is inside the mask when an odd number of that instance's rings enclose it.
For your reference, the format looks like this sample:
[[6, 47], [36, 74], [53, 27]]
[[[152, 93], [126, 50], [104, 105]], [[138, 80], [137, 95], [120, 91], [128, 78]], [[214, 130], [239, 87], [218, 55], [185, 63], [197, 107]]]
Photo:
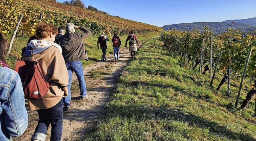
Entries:
[[31, 140], [37, 139], [44, 141], [46, 139], [47, 129], [51, 123], [52, 131], [50, 141], [60, 141], [62, 136], [63, 122], [63, 100], [48, 109], [36, 110], [39, 115], [39, 121]]

